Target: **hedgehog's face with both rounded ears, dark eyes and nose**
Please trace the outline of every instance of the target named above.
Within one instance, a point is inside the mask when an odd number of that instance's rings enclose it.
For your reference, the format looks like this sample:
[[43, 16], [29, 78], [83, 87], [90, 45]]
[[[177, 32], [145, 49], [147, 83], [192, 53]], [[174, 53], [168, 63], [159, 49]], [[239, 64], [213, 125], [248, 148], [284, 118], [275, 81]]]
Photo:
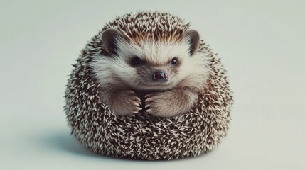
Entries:
[[199, 35], [189, 30], [175, 42], [134, 42], [118, 30], [108, 29], [102, 34], [102, 42], [116, 77], [134, 89], [167, 90], [192, 76], [191, 55], [197, 50]]

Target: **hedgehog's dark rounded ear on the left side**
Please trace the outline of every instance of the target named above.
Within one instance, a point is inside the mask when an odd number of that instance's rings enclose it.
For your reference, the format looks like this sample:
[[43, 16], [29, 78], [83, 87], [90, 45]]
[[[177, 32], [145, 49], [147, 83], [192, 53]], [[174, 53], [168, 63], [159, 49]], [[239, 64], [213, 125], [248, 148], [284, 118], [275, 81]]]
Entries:
[[117, 29], [109, 28], [104, 30], [102, 33], [102, 46], [109, 55], [117, 54], [117, 41], [118, 40], [127, 40], [127, 37], [124, 33], [120, 32]]

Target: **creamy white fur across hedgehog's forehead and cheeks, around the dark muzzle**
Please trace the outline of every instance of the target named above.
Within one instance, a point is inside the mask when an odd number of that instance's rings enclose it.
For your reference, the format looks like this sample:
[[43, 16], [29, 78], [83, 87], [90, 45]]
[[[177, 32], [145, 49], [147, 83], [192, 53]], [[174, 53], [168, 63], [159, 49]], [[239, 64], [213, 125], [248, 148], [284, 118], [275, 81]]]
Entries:
[[[166, 82], [168, 86], [162, 86], [163, 90], [173, 89], [183, 80], [198, 86], [207, 79], [208, 69], [205, 66], [204, 54], [197, 52], [190, 56], [189, 48], [188, 39], [179, 42], [146, 40], [139, 42], [139, 45], [132, 41], [119, 39], [117, 40], [117, 56], [96, 56], [95, 61], [92, 62], [92, 68], [102, 86], [113, 86], [113, 84], [119, 83], [115, 82], [117, 79], [114, 78], [119, 78], [127, 85], [137, 89], [137, 84], [142, 80], [137, 75], [137, 70], [129, 64], [132, 57], [137, 56], [141, 60], [159, 65], [159, 69], [162, 69], [160, 65], [166, 65], [173, 57], [177, 57], [181, 62], [178, 66], [178, 73], [169, 75]], [[139, 89], [151, 89], [151, 87], [141, 86]]]

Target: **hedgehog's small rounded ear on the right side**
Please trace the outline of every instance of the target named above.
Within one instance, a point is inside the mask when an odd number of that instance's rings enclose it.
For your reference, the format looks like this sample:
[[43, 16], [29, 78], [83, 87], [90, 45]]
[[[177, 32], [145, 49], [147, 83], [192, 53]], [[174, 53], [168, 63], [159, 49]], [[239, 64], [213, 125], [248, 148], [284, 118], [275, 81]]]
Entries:
[[184, 33], [183, 38], [186, 38], [188, 40], [188, 43], [190, 45], [190, 55], [195, 54], [198, 50], [198, 46], [200, 43], [200, 36], [199, 33], [196, 30], [187, 30], [186, 33]]

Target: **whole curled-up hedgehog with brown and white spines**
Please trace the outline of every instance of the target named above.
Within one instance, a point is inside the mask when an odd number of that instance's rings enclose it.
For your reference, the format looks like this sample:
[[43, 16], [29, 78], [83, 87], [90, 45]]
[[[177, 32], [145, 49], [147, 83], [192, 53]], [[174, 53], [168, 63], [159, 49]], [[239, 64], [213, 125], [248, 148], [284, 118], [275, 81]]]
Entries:
[[127, 13], [82, 50], [65, 91], [68, 125], [93, 152], [193, 157], [228, 132], [233, 103], [218, 57], [170, 13]]

